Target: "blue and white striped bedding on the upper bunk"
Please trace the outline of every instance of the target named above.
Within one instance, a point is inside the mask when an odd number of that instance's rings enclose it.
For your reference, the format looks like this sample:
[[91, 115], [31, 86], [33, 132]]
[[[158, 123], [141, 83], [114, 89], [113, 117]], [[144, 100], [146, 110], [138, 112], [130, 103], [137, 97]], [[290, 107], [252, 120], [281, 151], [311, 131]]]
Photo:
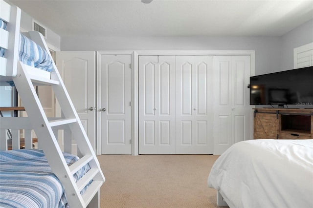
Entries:
[[[6, 29], [6, 23], [0, 20], [0, 28]], [[5, 50], [0, 48], [0, 56], [4, 57]], [[29, 66], [33, 66], [48, 72], [52, 71], [53, 60], [51, 56], [38, 44], [20, 34], [19, 60]], [[13, 84], [10, 83], [11, 85]]]

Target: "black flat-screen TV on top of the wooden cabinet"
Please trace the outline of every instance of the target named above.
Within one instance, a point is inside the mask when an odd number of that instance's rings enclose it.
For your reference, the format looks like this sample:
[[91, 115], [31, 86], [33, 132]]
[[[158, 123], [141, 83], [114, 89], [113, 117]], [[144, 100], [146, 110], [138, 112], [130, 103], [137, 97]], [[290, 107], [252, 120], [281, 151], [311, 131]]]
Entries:
[[313, 66], [250, 77], [250, 104], [313, 105]]

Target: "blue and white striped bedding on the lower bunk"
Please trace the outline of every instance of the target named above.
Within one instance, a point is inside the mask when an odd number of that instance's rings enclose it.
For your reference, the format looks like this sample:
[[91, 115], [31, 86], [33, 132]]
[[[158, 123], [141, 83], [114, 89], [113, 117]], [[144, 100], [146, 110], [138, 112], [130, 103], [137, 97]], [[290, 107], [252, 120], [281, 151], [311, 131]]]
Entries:
[[[75, 155], [63, 154], [68, 165], [79, 159]], [[76, 172], [76, 181], [89, 169], [87, 165]], [[42, 150], [17, 149], [0, 152], [0, 207], [67, 207], [64, 188], [52, 173]]]

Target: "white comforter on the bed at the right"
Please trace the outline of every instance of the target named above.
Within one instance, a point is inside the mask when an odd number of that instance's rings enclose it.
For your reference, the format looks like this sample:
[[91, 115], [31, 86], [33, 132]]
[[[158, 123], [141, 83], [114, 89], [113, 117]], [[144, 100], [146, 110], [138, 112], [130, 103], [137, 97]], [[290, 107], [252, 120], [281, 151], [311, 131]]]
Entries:
[[313, 139], [236, 143], [213, 165], [208, 186], [230, 208], [313, 208]]

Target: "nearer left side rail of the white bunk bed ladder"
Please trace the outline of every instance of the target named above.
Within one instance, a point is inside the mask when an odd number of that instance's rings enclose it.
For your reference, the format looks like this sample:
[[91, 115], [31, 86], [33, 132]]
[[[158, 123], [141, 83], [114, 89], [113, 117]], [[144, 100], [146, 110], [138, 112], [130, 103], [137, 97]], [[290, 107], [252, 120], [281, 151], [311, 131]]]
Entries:
[[[67, 201], [72, 207], [85, 207], [84, 200], [78, 192], [75, 180], [70, 174], [66, 160], [54, 136], [45, 111], [40, 104], [36, 91], [23, 70], [23, 63], [18, 62], [18, 76], [13, 78], [15, 86], [24, 104], [30, 122], [45, 153], [45, 157], [53, 173], [59, 178], [67, 193]], [[37, 105], [36, 105], [37, 104]], [[64, 167], [64, 168], [62, 168]], [[75, 186], [74, 186], [75, 185]], [[79, 193], [79, 192], [78, 192]]]

